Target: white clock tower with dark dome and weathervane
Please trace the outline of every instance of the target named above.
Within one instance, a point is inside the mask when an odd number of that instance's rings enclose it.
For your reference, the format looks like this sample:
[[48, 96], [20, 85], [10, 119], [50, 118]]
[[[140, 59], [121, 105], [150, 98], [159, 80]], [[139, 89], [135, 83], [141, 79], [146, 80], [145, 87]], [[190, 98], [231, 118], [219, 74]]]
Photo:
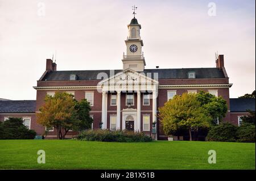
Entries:
[[[135, 12], [134, 12], [135, 15]], [[141, 40], [141, 24], [138, 23], [138, 20], [135, 18], [131, 19], [128, 27], [128, 36], [125, 40], [126, 44], [126, 55], [123, 53], [123, 70], [130, 68], [135, 71], [144, 71], [144, 66], [146, 62], [144, 60], [142, 46], [143, 41]]]

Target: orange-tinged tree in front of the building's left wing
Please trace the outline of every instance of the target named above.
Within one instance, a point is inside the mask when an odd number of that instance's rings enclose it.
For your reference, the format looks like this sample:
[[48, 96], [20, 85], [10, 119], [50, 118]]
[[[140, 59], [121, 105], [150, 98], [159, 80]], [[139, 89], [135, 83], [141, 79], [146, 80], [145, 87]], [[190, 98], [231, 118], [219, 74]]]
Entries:
[[39, 111], [36, 113], [37, 122], [46, 128], [56, 128], [59, 139], [64, 139], [68, 131], [79, 124], [75, 100], [67, 92], [57, 91], [54, 96], [47, 95]]

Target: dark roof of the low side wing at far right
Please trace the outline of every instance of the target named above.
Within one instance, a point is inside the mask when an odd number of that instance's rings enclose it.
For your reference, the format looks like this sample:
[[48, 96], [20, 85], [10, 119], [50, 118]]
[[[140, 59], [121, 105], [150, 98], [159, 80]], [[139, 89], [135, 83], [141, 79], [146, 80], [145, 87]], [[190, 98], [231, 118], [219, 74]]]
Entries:
[[230, 112], [255, 111], [255, 99], [253, 98], [230, 98]]

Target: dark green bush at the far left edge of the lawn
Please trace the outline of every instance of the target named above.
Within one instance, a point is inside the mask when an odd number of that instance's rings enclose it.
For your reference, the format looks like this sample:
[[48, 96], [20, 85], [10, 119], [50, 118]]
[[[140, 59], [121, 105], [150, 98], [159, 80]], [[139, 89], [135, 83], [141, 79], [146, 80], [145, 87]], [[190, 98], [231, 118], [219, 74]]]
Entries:
[[20, 118], [10, 117], [0, 124], [1, 140], [31, 140], [36, 136], [34, 130], [29, 130]]

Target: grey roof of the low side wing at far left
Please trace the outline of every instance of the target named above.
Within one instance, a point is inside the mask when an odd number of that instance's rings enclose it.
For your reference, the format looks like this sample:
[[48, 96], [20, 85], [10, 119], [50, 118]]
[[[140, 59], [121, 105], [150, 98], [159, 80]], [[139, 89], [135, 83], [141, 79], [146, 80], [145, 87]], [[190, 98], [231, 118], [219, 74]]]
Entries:
[[29, 113], [35, 108], [35, 100], [0, 100], [0, 113]]

